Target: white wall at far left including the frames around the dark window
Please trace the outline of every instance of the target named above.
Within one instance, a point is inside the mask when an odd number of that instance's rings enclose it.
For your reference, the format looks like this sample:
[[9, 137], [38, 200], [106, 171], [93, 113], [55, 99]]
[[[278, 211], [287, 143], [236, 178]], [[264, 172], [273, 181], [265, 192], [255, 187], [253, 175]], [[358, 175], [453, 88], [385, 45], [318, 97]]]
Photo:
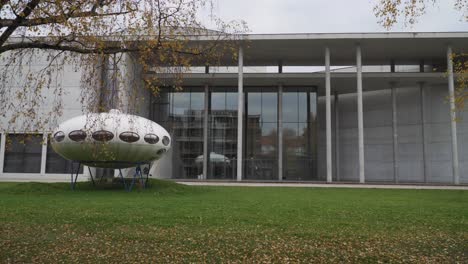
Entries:
[[[40, 91], [39, 95], [32, 93], [31, 90], [25, 89], [27, 87], [27, 82], [33, 82], [36, 79], [34, 76], [44, 75], [44, 70], [47, 69], [50, 63], [50, 55], [48, 52], [41, 50], [34, 50], [31, 56], [25, 56], [23, 60], [17, 60], [14, 63], [8, 63], [9, 54], [3, 54], [0, 57], [0, 67], [4, 70], [10, 67], [9, 77], [4, 80], [1, 86], [2, 92], [5, 93], [5, 103], [12, 104], [14, 106], [21, 106], [23, 99], [18, 99], [18, 93], [26, 93], [27, 98], [30, 101], [36, 100], [39, 106], [36, 108], [37, 118], [33, 121], [39, 119], [44, 126], [31, 127], [27, 126], [25, 119], [18, 119], [13, 123], [10, 123], [9, 120], [12, 117], [12, 114], [15, 112], [15, 108], [7, 107], [2, 105], [2, 109], [5, 116], [0, 116], [0, 133], [1, 144], [0, 144], [0, 179], [1, 180], [68, 180], [69, 174], [46, 174], [46, 155], [47, 155], [47, 145], [45, 144], [47, 139], [47, 134], [50, 133], [56, 125], [60, 122], [63, 122], [69, 118], [78, 116], [82, 114], [82, 104], [81, 104], [81, 74], [82, 69], [75, 65], [64, 65], [60, 70], [54, 71], [52, 73], [52, 79], [48, 86]], [[56, 63], [61, 61], [61, 57], [58, 56]], [[23, 66], [20, 66], [21, 64]], [[33, 74], [33, 79], [28, 80], [26, 77], [28, 74]], [[62, 105], [61, 113], [57, 113], [54, 110], [54, 105]], [[9, 111], [6, 111], [9, 110]], [[49, 123], [44, 121], [49, 119]], [[34, 130], [38, 133], [44, 135], [44, 145], [42, 146], [42, 162], [41, 162], [41, 172], [40, 173], [4, 173], [3, 172], [3, 162], [5, 155], [5, 132], [9, 133], [31, 133]]]

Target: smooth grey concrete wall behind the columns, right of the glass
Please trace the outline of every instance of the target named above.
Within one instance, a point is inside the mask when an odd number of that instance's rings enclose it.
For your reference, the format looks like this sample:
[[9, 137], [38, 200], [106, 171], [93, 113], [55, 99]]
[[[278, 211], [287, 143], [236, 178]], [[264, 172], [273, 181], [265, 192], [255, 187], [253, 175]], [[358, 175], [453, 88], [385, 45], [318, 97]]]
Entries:
[[[452, 183], [450, 110], [446, 85], [425, 86], [426, 161], [423, 155], [421, 90], [418, 85], [396, 87], [398, 179], [401, 183]], [[325, 98], [319, 98], [319, 175], [325, 167]], [[332, 97], [333, 100], [333, 97]], [[391, 90], [368, 91], [364, 102], [365, 174], [367, 182], [393, 182]], [[332, 107], [332, 110], [334, 108]], [[339, 173], [342, 181], [358, 181], [356, 94], [339, 95]], [[335, 116], [335, 113], [332, 113]], [[334, 120], [333, 120], [334, 124]], [[468, 110], [459, 113], [458, 150], [460, 181], [468, 182]], [[333, 127], [334, 129], [334, 127]], [[334, 135], [334, 133], [333, 133]], [[333, 150], [335, 146], [333, 146]], [[335, 158], [333, 162], [335, 162]], [[333, 166], [335, 168], [335, 166]], [[336, 180], [334, 171], [334, 179]]]

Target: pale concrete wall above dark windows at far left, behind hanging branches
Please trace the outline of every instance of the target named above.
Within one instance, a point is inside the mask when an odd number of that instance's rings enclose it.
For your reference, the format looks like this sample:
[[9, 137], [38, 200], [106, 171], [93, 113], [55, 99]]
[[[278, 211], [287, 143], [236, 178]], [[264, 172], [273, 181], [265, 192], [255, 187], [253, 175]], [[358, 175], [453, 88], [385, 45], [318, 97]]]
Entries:
[[[51, 130], [58, 123], [80, 115], [82, 112], [82, 104], [79, 100], [81, 94], [80, 80], [82, 75], [82, 69], [80, 67], [66, 64], [62, 69], [53, 71], [50, 84], [44, 85], [41, 91], [36, 92], [24, 88], [37, 80], [35, 76], [44, 75], [43, 70], [47, 68], [51, 60], [51, 55], [47, 52], [34, 50], [33, 54], [33, 56], [25, 56], [25, 58], [23, 58], [22, 67], [19, 66], [19, 58], [14, 63], [9, 64], [8, 78], [2, 80], [0, 84], [0, 90], [4, 93], [2, 96], [5, 96], [7, 103], [14, 105], [14, 107], [7, 107], [6, 105], [1, 106], [1, 109], [8, 109], [10, 111], [6, 112], [6, 116], [0, 116], [0, 131], [6, 129], [9, 131], [25, 130], [24, 128], [27, 121], [24, 119], [20, 119], [11, 125], [8, 122], [12, 114], [17, 110], [15, 107], [19, 107], [18, 109], [21, 110], [21, 108], [25, 106], [25, 100], [18, 99], [18, 93], [20, 92], [23, 93], [29, 101], [37, 101], [37, 119], [45, 120], [47, 117], [53, 121], [44, 126], [43, 130]], [[6, 53], [0, 57], [0, 67], [2, 67], [3, 70], [7, 69], [6, 64], [9, 55], [9, 53]], [[56, 63], [60, 63], [64, 56], [67, 55], [58, 56]], [[26, 78], [28, 74], [32, 74], [33, 78], [31, 80]], [[42, 97], [42, 99], [40, 97]], [[62, 113], [56, 114], [56, 112], [54, 112], [53, 107], [56, 105], [63, 106]]]

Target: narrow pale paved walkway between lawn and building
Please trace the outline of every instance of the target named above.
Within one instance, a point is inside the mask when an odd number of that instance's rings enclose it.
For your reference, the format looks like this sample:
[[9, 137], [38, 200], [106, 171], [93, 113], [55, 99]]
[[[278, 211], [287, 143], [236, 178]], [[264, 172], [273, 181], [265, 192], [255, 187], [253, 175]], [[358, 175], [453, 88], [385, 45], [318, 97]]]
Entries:
[[296, 188], [364, 188], [364, 189], [414, 189], [414, 190], [466, 190], [468, 185], [412, 185], [412, 184], [354, 184], [354, 183], [264, 183], [264, 182], [211, 182], [177, 181], [192, 186], [240, 186], [240, 187], [296, 187]]

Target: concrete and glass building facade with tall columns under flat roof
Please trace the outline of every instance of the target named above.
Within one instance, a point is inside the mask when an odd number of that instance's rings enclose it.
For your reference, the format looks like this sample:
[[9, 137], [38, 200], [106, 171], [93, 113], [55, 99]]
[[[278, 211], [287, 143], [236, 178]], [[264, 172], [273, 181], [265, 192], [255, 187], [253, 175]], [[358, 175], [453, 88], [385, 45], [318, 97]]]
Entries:
[[[220, 62], [228, 70], [187, 72], [182, 91], [142, 92], [138, 114], [173, 139], [151, 174], [467, 184], [468, 120], [465, 109], [454, 111], [451, 60], [466, 47], [465, 32], [245, 35], [238, 60]], [[138, 68], [132, 63], [124, 66]], [[70, 82], [80, 73], [67, 74]], [[70, 84], [70, 93], [78, 86]], [[62, 119], [78, 114], [65, 109]], [[11, 153], [9, 135], [0, 133], [0, 178], [67, 179], [67, 163], [47, 145], [18, 145]]]

